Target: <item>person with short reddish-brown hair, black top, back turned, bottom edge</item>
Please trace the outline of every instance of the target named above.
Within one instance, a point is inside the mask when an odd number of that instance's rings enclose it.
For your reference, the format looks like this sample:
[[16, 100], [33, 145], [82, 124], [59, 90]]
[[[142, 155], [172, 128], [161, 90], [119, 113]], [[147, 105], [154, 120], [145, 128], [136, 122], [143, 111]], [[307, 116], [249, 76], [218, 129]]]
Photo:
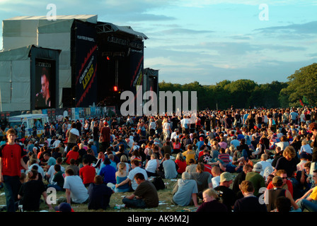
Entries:
[[234, 212], [267, 212], [265, 203], [260, 203], [259, 198], [254, 193], [252, 182], [243, 181], [239, 185], [243, 198], [239, 198], [234, 203]]

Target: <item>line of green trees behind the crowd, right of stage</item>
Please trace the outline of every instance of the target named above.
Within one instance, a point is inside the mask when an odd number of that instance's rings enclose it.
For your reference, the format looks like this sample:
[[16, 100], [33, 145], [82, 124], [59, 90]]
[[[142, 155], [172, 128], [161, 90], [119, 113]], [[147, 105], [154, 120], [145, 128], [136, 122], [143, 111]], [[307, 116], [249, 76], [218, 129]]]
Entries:
[[196, 91], [199, 110], [317, 105], [317, 64], [305, 66], [287, 79], [287, 82], [272, 81], [265, 84], [248, 79], [224, 80], [216, 85], [201, 85], [197, 81], [180, 85], [162, 81], [159, 91]]

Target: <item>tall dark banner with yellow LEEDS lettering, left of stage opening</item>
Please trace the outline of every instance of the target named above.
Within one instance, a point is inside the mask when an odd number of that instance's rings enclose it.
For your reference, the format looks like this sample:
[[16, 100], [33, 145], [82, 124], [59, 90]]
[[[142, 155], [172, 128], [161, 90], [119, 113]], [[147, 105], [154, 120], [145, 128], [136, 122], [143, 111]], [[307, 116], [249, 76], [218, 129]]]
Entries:
[[76, 107], [88, 107], [97, 100], [96, 28], [76, 22]]

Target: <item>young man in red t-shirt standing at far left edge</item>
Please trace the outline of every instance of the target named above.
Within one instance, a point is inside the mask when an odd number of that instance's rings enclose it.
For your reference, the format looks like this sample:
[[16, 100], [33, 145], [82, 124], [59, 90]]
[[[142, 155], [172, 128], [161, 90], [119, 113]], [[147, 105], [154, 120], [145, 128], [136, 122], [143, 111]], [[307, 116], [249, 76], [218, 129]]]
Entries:
[[28, 167], [23, 161], [25, 151], [21, 145], [15, 143], [16, 131], [8, 129], [6, 138], [8, 142], [0, 147], [0, 182], [4, 183], [6, 209], [8, 212], [15, 212], [15, 202], [21, 186], [21, 169], [28, 170]]

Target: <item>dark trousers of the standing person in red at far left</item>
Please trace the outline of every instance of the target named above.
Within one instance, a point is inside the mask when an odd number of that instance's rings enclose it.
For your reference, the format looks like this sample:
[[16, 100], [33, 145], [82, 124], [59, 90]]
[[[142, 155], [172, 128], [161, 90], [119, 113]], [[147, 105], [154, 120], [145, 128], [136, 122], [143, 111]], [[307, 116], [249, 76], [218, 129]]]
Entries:
[[11, 177], [4, 175], [4, 192], [6, 194], [6, 210], [16, 212], [16, 201], [18, 201], [18, 190], [21, 182], [18, 176]]

